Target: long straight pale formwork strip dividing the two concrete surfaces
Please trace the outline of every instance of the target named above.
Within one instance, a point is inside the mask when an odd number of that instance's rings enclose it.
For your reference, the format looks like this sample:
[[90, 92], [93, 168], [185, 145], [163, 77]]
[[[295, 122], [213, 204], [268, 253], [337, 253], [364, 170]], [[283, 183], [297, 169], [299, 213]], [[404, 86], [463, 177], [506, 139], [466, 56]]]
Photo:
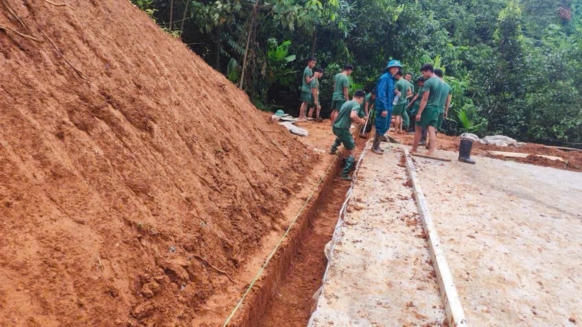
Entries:
[[404, 149], [404, 157], [406, 158], [406, 171], [408, 171], [408, 175], [412, 181], [412, 189], [417, 200], [419, 216], [428, 236], [430, 256], [432, 257], [432, 264], [436, 271], [436, 280], [438, 280], [439, 288], [441, 289], [441, 297], [445, 304], [447, 319], [450, 326], [469, 326], [467, 318], [465, 318], [463, 306], [461, 306], [461, 300], [456, 291], [449, 265], [447, 264], [447, 259], [445, 258], [445, 253], [439, 241], [439, 235], [436, 234], [432, 216], [428, 210], [426, 197], [424, 196], [415, 171], [415, 165], [412, 163], [408, 148], [402, 146], [402, 149]]

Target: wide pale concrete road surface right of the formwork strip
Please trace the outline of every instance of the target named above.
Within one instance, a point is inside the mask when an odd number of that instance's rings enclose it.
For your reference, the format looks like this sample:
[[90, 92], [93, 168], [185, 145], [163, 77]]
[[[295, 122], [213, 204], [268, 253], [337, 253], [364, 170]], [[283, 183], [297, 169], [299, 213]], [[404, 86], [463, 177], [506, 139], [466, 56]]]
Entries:
[[582, 173], [437, 155], [414, 158], [469, 324], [580, 326]]

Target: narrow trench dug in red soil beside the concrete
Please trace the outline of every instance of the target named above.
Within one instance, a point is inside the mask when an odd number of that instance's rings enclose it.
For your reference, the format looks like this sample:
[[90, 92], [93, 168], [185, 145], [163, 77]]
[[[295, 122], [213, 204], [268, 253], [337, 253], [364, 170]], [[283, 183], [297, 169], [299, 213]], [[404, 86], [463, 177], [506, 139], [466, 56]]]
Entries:
[[[356, 139], [357, 156], [365, 139]], [[341, 155], [340, 155], [341, 156]], [[340, 180], [338, 157], [229, 326], [305, 326], [327, 265], [331, 239], [350, 183]]]

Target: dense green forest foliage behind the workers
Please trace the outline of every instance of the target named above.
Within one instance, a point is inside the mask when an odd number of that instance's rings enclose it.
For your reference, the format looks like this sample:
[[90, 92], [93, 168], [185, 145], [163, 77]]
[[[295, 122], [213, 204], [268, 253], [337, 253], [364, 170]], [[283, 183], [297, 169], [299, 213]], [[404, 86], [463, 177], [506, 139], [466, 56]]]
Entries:
[[356, 66], [354, 86], [369, 91], [396, 58], [415, 77], [423, 62], [445, 70], [449, 134], [582, 143], [582, 0], [133, 2], [242, 82], [263, 110], [296, 112], [309, 56], [326, 69], [324, 111], [345, 63]]

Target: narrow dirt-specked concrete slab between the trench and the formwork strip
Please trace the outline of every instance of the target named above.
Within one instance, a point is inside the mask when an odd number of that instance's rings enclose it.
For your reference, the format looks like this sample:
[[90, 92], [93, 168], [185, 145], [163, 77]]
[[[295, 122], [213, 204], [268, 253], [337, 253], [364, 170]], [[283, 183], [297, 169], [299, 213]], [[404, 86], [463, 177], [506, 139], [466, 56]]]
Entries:
[[397, 147], [369, 153], [336, 229], [309, 326], [441, 326], [439, 286]]

